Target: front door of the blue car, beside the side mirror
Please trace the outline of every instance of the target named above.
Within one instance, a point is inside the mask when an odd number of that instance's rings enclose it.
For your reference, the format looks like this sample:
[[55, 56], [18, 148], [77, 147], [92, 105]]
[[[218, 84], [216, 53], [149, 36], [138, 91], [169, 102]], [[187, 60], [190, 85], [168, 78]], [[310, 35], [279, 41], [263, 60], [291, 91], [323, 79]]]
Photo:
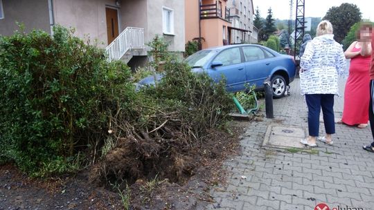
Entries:
[[239, 47], [222, 50], [212, 61], [222, 66], [211, 67], [208, 74], [215, 82], [220, 81], [223, 76], [226, 79], [226, 89], [230, 92], [243, 90], [246, 76], [242, 60]]

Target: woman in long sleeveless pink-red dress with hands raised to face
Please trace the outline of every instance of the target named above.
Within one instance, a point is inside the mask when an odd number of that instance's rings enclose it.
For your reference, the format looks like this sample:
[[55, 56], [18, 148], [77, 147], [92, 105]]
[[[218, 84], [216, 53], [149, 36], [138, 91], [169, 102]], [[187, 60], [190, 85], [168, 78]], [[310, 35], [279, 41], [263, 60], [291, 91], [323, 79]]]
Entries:
[[364, 37], [366, 33], [366, 25], [364, 24], [357, 32], [358, 41], [350, 44], [349, 48], [344, 52], [347, 59], [350, 59], [349, 76], [344, 91], [344, 111], [340, 123], [350, 126], [365, 128], [368, 126], [368, 105], [369, 105], [369, 82], [370, 75], [368, 73], [371, 61], [371, 43], [362, 41], [360, 37]]

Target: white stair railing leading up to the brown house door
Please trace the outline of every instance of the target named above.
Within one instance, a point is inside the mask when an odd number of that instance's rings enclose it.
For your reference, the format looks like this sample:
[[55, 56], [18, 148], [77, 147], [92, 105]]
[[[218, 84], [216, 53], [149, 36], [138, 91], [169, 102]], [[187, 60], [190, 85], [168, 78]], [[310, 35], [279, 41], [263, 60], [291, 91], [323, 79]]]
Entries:
[[109, 60], [118, 60], [130, 49], [144, 49], [144, 29], [127, 27], [105, 49]]

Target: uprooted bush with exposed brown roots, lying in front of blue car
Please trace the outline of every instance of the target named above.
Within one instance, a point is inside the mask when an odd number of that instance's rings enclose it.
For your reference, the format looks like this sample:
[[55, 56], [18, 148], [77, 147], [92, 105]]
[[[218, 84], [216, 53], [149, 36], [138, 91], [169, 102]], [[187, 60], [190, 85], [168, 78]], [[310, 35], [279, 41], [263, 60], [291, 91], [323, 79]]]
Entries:
[[[91, 180], [168, 178], [184, 181], [199, 159], [212, 128], [224, 124], [233, 103], [224, 82], [194, 74], [183, 63], [167, 61], [165, 76], [139, 93], [136, 117], [119, 112], [112, 118], [117, 146], [91, 173]], [[214, 155], [214, 154], [211, 154]]]

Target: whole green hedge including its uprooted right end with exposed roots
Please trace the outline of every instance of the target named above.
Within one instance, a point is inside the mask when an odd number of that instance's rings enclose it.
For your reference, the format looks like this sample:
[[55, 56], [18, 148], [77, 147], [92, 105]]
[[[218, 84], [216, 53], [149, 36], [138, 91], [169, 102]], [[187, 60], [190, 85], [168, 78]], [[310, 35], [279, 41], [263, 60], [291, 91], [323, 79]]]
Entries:
[[1, 37], [0, 160], [31, 175], [86, 162], [93, 182], [183, 181], [233, 103], [223, 81], [166, 58], [163, 79], [136, 93], [127, 66], [65, 28]]

